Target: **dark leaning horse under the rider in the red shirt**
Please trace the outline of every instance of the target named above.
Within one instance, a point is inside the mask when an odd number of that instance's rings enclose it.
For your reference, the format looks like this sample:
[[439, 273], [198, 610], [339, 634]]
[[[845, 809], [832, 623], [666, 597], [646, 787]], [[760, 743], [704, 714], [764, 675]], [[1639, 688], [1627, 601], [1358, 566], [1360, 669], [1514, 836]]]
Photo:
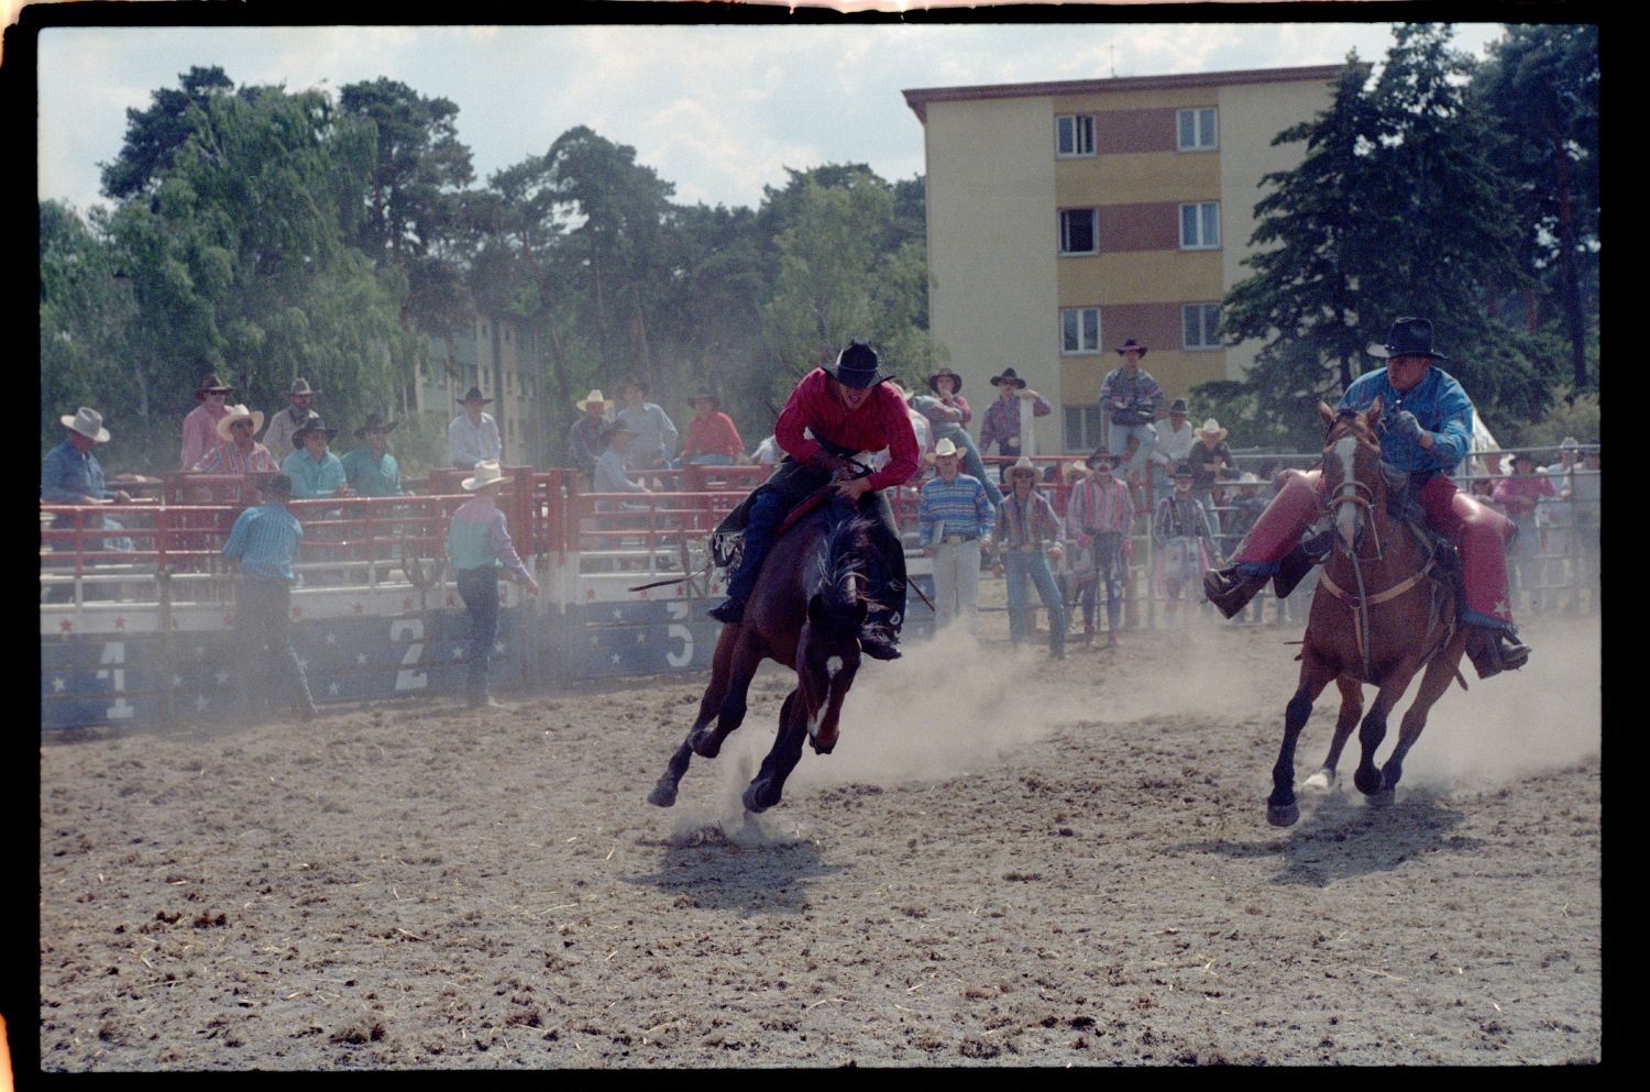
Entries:
[[868, 528], [866, 520], [856, 518], [827, 531], [827, 515], [818, 510], [779, 536], [762, 562], [744, 620], [723, 627], [700, 716], [647, 795], [648, 803], [668, 808], [691, 757], [714, 759], [721, 752], [723, 741], [744, 721], [751, 676], [764, 658], [795, 670], [797, 686], [779, 711], [779, 736], [744, 790], [744, 807], [766, 812], [779, 803], [785, 779], [802, 757], [804, 739], [818, 754], [837, 746], [842, 703], [860, 670], [860, 627], [870, 609]]

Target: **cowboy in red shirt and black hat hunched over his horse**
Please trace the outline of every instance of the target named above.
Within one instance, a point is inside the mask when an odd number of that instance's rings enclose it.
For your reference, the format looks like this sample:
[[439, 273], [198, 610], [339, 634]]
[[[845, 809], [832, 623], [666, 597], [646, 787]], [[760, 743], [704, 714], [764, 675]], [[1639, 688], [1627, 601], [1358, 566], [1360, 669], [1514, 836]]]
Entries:
[[[868, 566], [868, 597], [881, 604], [860, 633], [860, 648], [878, 660], [896, 660], [896, 640], [906, 609], [906, 553], [894, 528], [894, 510], [881, 490], [908, 482], [917, 472], [917, 435], [904, 401], [888, 386], [876, 350], [853, 341], [837, 356], [833, 371], [815, 368], [779, 414], [774, 435], [785, 457], [774, 477], [759, 485], [747, 510], [739, 562], [728, 572], [728, 600], [711, 610], [718, 622], [739, 622], [744, 602], [756, 589], [762, 558], [772, 546], [785, 513], [818, 488], [835, 483], [832, 520], [855, 511], [874, 521], [878, 549]], [[805, 432], [804, 432], [805, 431]], [[812, 435], [808, 435], [812, 434]], [[888, 464], [870, 475], [853, 462], [860, 452], [888, 449]], [[738, 526], [739, 510], [718, 528]]]

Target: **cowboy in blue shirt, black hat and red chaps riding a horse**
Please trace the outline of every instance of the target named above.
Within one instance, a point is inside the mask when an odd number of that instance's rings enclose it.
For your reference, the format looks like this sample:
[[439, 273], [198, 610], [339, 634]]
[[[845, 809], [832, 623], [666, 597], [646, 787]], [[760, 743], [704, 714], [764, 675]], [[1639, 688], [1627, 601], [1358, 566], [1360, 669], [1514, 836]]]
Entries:
[[[1530, 648], [1518, 642], [1506, 594], [1506, 539], [1513, 523], [1502, 513], [1455, 488], [1449, 472], [1467, 457], [1472, 444], [1472, 399], [1447, 371], [1434, 366], [1449, 360], [1432, 350], [1432, 323], [1399, 318], [1386, 345], [1370, 345], [1368, 353], [1386, 360], [1386, 368], [1360, 376], [1341, 409], [1370, 409], [1374, 399], [1386, 407], [1381, 457], [1409, 473], [1411, 490], [1427, 523], [1460, 548], [1465, 577], [1467, 655], [1478, 678], [1521, 668]], [[1287, 595], [1312, 562], [1300, 536], [1323, 505], [1323, 475], [1318, 470], [1284, 472], [1272, 503], [1239, 543], [1233, 564], [1211, 569], [1203, 589], [1221, 614], [1236, 615], [1269, 579], [1279, 597]]]

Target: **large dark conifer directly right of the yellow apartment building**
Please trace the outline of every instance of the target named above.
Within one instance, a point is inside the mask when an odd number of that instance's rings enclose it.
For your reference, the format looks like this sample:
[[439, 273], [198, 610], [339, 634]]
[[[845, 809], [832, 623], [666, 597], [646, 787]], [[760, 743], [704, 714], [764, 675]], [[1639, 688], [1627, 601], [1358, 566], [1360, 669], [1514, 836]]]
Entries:
[[1264, 346], [1246, 383], [1262, 427], [1305, 444], [1318, 399], [1338, 401], [1365, 346], [1399, 315], [1429, 317], [1450, 371], [1492, 416], [1536, 416], [1549, 399], [1538, 338], [1492, 315], [1521, 282], [1500, 135], [1470, 87], [1473, 61], [1437, 25], [1402, 25], [1373, 84], [1348, 58], [1330, 107], [1279, 134], [1302, 163], [1262, 180], [1256, 271], [1228, 294], [1223, 332]]

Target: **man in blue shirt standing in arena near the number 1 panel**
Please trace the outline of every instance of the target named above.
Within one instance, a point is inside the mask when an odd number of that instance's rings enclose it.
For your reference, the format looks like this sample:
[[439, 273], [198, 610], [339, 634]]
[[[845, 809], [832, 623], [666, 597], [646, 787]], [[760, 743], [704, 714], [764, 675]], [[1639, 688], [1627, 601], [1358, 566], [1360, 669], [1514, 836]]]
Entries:
[[[223, 544], [223, 556], [241, 569], [234, 592], [234, 633], [243, 652], [252, 653], [251, 661], [262, 665], [262, 699], [272, 709], [290, 704], [310, 721], [315, 718], [315, 699], [304, 663], [292, 648], [292, 561], [304, 528], [287, 511], [290, 477], [272, 475], [264, 482], [262, 493], [264, 503], [236, 516]], [[257, 708], [256, 699], [252, 708]]]

